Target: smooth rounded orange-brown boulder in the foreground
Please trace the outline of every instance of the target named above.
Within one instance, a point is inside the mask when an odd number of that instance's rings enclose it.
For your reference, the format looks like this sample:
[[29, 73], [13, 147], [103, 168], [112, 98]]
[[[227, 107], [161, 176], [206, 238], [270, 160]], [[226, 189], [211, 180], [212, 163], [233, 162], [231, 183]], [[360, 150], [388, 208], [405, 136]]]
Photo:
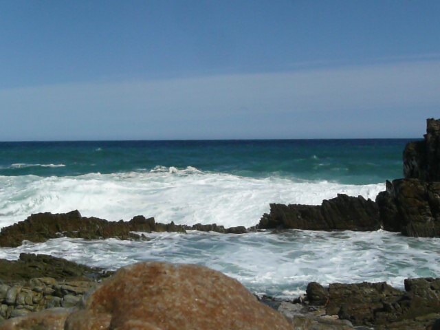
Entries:
[[77, 310], [46, 310], [1, 330], [291, 329], [238, 281], [198, 265], [137, 263], [116, 272]]

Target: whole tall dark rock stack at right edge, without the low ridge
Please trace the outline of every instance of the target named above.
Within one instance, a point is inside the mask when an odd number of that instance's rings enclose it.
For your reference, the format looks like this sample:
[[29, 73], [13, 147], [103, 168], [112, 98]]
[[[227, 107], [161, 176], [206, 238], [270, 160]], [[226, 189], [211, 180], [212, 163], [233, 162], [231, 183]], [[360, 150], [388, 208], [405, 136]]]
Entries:
[[376, 197], [384, 230], [440, 236], [440, 120], [427, 120], [424, 140], [404, 150], [404, 179], [386, 182]]

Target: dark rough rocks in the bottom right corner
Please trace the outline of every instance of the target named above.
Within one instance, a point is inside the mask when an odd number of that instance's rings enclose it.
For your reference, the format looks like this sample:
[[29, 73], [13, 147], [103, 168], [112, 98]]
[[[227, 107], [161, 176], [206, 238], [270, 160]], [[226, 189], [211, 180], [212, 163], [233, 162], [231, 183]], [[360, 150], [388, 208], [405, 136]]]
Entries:
[[[322, 298], [327, 300], [325, 304]], [[405, 291], [386, 283], [318, 283], [307, 287], [310, 304], [325, 305], [327, 315], [337, 314], [353, 325], [376, 329], [425, 329], [440, 317], [440, 278], [405, 281]]]

